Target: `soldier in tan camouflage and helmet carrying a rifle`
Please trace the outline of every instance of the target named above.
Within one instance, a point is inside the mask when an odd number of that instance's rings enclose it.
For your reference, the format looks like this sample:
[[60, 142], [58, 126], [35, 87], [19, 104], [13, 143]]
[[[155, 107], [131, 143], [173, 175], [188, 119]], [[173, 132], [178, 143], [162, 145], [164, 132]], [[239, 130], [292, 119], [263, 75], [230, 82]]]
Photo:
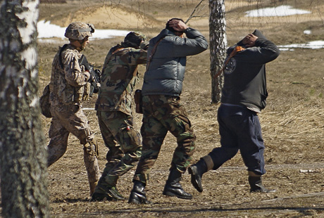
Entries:
[[89, 44], [94, 32], [92, 24], [75, 22], [68, 25], [65, 36], [70, 44], [62, 46], [52, 63], [51, 82], [51, 127], [49, 128], [48, 165], [51, 166], [64, 153], [68, 146], [68, 136], [73, 134], [80, 140], [84, 150], [84, 162], [90, 186], [90, 195], [94, 192], [100, 177], [97, 153], [98, 146], [89, 122], [82, 111], [82, 101], [87, 99], [89, 91], [89, 72], [80, 66], [80, 51]]

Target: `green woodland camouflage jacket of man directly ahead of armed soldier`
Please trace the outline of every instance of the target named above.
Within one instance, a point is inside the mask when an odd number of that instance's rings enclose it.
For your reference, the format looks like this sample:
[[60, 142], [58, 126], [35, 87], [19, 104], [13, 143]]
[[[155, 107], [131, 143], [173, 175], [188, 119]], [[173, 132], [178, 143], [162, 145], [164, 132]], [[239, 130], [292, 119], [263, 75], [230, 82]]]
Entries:
[[119, 44], [106, 56], [96, 110], [121, 111], [132, 115], [134, 86], [138, 81], [137, 65], [147, 62], [144, 49], [123, 48]]

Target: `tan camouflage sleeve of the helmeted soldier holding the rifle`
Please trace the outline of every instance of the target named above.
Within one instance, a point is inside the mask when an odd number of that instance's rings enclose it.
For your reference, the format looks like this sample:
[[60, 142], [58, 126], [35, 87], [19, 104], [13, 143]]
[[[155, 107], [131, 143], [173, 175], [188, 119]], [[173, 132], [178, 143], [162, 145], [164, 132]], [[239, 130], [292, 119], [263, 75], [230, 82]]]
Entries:
[[[62, 53], [63, 55], [63, 53]], [[66, 81], [71, 86], [84, 86], [89, 80], [89, 72], [85, 72], [80, 68], [79, 58], [73, 52], [64, 53], [63, 55], [64, 72]]]

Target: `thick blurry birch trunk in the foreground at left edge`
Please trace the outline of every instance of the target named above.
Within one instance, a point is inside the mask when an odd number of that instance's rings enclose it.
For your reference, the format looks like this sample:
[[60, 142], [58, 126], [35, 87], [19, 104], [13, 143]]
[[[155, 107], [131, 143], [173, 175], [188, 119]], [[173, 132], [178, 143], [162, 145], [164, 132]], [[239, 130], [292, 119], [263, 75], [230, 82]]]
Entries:
[[39, 0], [0, 1], [0, 176], [4, 217], [49, 217], [39, 117]]

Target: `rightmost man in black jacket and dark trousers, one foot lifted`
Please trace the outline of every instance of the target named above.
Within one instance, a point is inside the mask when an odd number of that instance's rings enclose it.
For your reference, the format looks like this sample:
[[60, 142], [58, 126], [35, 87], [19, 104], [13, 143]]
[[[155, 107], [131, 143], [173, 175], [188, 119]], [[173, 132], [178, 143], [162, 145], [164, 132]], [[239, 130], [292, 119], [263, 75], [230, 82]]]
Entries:
[[[230, 58], [232, 51], [237, 52]], [[266, 107], [266, 63], [279, 56], [279, 49], [260, 31], [248, 34], [228, 49], [224, 70], [221, 105], [218, 108], [220, 148], [189, 167], [191, 181], [202, 192], [202, 174], [218, 169], [240, 150], [247, 166], [251, 192], [270, 192], [261, 181], [264, 169], [264, 144], [257, 113]]]

